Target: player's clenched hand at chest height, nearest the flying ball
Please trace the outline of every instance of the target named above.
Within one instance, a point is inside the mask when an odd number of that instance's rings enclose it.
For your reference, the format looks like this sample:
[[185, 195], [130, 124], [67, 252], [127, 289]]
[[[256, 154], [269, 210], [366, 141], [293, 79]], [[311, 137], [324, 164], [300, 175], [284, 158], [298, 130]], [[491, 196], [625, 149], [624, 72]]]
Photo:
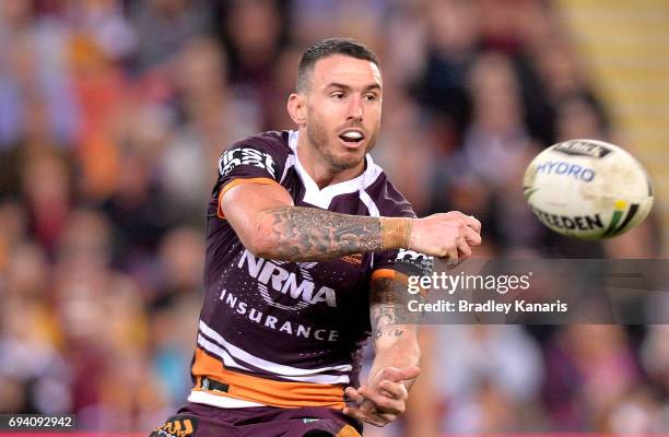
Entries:
[[471, 256], [481, 244], [481, 222], [459, 211], [414, 218], [409, 249], [445, 259], [449, 268]]

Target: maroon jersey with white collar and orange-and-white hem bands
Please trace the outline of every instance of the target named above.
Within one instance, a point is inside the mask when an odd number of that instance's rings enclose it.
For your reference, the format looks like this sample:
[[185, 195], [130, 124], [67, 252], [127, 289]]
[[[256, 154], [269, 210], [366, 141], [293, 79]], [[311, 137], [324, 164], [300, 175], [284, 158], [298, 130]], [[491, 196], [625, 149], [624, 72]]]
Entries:
[[319, 189], [296, 146], [297, 132], [266, 132], [221, 156], [208, 213], [207, 294], [191, 402], [343, 408], [343, 389], [359, 385], [361, 350], [369, 335], [372, 277], [430, 274], [432, 259], [411, 250], [327, 262], [277, 261], [248, 251], [220, 206], [223, 193], [238, 184], [280, 184], [297, 206], [415, 216], [369, 155], [362, 175]]

